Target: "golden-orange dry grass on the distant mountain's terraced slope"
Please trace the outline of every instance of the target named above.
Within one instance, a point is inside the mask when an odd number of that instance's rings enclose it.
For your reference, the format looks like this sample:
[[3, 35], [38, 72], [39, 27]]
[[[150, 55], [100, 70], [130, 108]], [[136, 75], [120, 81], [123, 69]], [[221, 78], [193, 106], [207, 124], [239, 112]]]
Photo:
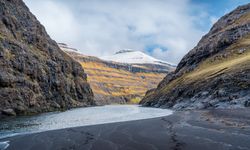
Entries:
[[105, 96], [138, 95], [131, 99], [138, 103], [140, 97], [165, 77], [159, 73], [132, 73], [122, 69], [111, 68], [99, 62], [80, 62], [88, 74], [88, 81], [95, 94]]

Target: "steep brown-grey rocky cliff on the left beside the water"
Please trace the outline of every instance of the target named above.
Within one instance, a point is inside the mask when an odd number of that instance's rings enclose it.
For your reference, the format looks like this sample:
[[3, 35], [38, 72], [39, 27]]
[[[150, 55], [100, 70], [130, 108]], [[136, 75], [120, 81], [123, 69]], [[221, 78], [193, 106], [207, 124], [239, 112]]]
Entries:
[[93, 104], [81, 65], [59, 49], [21, 0], [0, 0], [0, 114]]

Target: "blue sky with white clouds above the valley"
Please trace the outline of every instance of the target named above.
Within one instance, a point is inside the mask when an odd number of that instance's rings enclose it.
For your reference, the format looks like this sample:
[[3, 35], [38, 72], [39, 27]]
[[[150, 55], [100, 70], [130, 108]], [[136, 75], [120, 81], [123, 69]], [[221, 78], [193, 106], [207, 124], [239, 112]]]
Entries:
[[250, 0], [24, 0], [52, 39], [92, 56], [122, 49], [177, 64], [223, 15]]

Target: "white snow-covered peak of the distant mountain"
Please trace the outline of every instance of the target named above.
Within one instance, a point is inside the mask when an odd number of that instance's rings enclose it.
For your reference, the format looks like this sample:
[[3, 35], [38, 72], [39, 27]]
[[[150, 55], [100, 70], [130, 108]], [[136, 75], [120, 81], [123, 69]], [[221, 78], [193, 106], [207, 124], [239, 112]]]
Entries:
[[101, 57], [101, 59], [126, 64], [156, 64], [175, 67], [172, 63], [153, 58], [141, 51], [134, 50], [121, 50], [114, 55]]

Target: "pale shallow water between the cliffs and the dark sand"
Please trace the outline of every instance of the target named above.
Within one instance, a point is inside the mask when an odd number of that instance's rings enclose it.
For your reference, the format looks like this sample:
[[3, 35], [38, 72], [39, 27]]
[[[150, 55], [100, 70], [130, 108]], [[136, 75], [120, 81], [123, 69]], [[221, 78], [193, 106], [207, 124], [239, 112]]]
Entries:
[[0, 138], [68, 127], [155, 118], [170, 114], [172, 111], [167, 109], [145, 108], [138, 105], [77, 108], [65, 112], [0, 120]]

